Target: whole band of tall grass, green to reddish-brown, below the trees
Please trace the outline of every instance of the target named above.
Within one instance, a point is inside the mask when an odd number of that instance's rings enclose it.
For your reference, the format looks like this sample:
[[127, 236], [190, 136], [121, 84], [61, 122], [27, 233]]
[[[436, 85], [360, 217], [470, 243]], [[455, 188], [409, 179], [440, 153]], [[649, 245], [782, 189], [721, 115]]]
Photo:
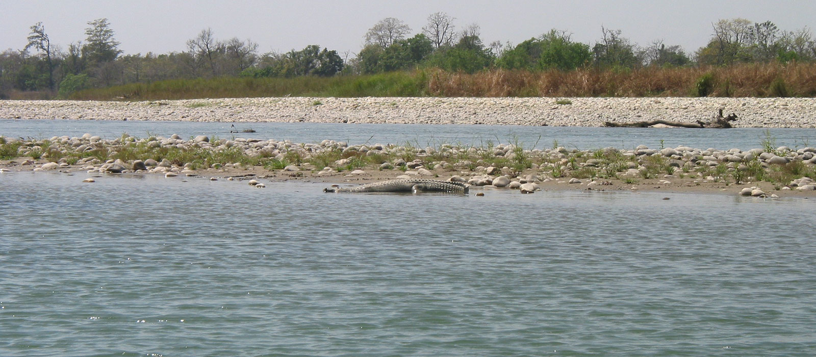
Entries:
[[814, 97], [816, 64], [580, 68], [530, 72], [438, 68], [338, 77], [178, 79], [82, 90], [71, 99], [156, 100], [310, 97]]

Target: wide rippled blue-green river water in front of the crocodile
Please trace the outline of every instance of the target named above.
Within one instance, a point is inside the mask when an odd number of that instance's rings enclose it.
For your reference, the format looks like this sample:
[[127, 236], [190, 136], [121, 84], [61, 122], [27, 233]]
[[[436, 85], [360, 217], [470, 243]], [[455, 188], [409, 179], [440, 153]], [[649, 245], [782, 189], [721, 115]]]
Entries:
[[0, 174], [0, 355], [816, 350], [812, 200], [85, 178]]

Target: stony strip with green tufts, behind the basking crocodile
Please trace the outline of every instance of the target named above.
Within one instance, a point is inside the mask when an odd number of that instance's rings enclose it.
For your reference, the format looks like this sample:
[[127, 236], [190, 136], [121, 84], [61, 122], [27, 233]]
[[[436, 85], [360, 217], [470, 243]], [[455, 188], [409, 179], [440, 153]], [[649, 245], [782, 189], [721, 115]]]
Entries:
[[0, 137], [0, 171], [62, 171], [89, 178], [161, 174], [167, 179], [299, 180], [353, 185], [384, 179], [441, 179], [474, 188], [510, 189], [534, 183], [547, 190], [630, 190], [724, 193], [746, 196], [816, 196], [816, 148], [714, 150], [698, 148], [563, 147], [525, 150], [513, 144], [437, 148], [292, 143], [288, 140], [106, 140]]

